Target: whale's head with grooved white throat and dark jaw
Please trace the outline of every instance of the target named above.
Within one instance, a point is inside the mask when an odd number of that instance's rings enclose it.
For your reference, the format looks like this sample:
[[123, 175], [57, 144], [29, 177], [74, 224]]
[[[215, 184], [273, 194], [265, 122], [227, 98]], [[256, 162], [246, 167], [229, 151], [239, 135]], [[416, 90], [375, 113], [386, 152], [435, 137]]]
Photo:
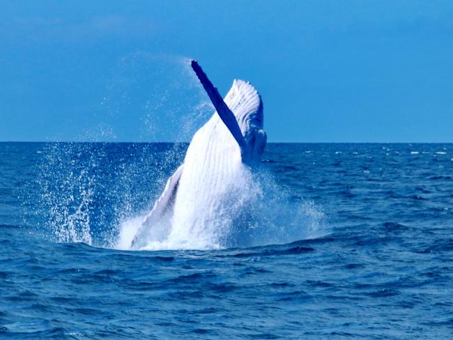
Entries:
[[259, 162], [267, 139], [263, 130], [261, 95], [249, 82], [234, 79], [224, 102], [233, 112], [246, 142], [245, 148], [241, 150], [243, 162], [249, 164]]

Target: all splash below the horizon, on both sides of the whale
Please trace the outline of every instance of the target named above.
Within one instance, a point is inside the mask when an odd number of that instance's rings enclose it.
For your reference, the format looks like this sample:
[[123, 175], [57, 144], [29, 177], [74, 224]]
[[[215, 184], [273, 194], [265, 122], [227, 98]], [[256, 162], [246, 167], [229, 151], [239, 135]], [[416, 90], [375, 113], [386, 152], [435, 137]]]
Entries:
[[[167, 177], [183, 161], [185, 148], [187, 144], [47, 144], [38, 178], [40, 232], [54, 242], [130, 249]], [[189, 233], [187, 224], [192, 226]], [[146, 235], [141, 249], [284, 244], [319, 237], [324, 226], [324, 214], [314, 203], [295, 198], [267, 169], [243, 167], [225, 183], [215, 204], [201, 207], [194, 219], [167, 215]]]

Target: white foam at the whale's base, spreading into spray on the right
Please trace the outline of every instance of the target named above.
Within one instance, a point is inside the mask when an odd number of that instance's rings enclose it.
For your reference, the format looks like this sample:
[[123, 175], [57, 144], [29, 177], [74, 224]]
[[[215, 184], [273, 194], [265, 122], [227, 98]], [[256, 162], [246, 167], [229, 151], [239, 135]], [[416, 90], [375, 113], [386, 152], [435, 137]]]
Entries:
[[[289, 192], [277, 185], [270, 173], [252, 172], [243, 166], [227, 185], [215, 203], [199, 207], [196, 217], [164, 216], [146, 240], [141, 240], [145, 245], [140, 249], [255, 247], [325, 234], [323, 212], [311, 201], [291, 200]], [[144, 215], [139, 215], [121, 223], [118, 249], [130, 249], [143, 219]]]

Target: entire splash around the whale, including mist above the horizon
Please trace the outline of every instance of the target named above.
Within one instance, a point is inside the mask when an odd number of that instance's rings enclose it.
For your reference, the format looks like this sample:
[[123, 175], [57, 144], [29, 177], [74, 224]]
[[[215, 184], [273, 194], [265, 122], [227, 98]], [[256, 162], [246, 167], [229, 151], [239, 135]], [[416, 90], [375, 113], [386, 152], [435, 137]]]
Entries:
[[[141, 74], [151, 65], [152, 77], [144, 79]], [[56, 242], [130, 249], [169, 174], [183, 162], [187, 144], [93, 143], [121, 138], [117, 126], [130, 114], [125, 107], [141, 103], [138, 139], [146, 140], [162, 135], [188, 140], [213, 111], [185, 58], [131, 54], [121, 60], [118, 77], [112, 79], [102, 98], [105, 113], [114, 118], [109, 125], [95, 123], [76, 138], [90, 143], [47, 144], [43, 150], [40, 230]], [[150, 87], [147, 82], [156, 84]], [[143, 88], [151, 88], [150, 93], [142, 93]], [[162, 88], [167, 90], [162, 93]], [[181, 98], [181, 93], [186, 94]], [[187, 98], [190, 102], [183, 105]], [[313, 203], [294, 200], [270, 173], [242, 167], [225, 182], [215, 203], [200, 206], [191, 217], [165, 216], [146, 235], [142, 249], [287, 243], [323, 234], [323, 221], [323, 212]]]

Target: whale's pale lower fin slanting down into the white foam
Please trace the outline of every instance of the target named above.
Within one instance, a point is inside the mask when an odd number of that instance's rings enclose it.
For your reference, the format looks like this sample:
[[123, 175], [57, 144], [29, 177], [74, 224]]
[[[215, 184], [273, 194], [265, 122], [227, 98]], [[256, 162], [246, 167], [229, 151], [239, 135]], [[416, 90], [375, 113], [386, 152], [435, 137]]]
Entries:
[[155, 201], [153, 209], [146, 215], [141, 226], [132, 240], [132, 247], [136, 247], [137, 243], [141, 239], [141, 236], [146, 235], [149, 229], [159, 222], [159, 219], [171, 208], [171, 205], [174, 203], [176, 196], [176, 190], [178, 188], [179, 179], [183, 173], [184, 164], [181, 164], [178, 169], [170, 176], [165, 185], [164, 192], [160, 195], [159, 199]]

